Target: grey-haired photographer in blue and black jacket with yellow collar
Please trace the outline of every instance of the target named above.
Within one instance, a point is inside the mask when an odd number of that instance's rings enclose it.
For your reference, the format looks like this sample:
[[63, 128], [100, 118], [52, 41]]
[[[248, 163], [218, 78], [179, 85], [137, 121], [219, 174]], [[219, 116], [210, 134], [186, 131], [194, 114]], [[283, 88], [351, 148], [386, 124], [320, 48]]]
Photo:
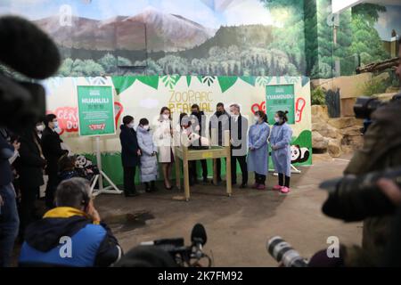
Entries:
[[122, 249], [101, 222], [86, 179], [61, 182], [55, 204], [27, 228], [20, 266], [106, 267], [119, 261]]

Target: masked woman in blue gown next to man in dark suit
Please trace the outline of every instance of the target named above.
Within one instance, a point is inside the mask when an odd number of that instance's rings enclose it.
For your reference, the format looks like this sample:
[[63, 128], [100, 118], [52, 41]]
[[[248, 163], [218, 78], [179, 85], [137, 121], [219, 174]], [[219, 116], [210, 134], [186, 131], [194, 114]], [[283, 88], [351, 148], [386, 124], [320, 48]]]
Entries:
[[267, 116], [264, 111], [255, 112], [255, 124], [250, 126], [248, 141], [250, 151], [248, 153], [248, 170], [255, 172], [253, 189], [266, 189], [266, 175], [268, 172], [269, 152], [267, 138], [270, 134], [270, 126], [267, 124]]

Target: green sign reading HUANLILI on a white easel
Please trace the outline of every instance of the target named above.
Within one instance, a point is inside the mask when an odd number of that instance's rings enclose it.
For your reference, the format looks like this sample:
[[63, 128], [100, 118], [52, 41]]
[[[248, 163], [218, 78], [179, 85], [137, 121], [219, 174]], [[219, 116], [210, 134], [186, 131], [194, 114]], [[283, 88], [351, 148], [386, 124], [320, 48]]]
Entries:
[[78, 86], [79, 135], [115, 134], [111, 86]]

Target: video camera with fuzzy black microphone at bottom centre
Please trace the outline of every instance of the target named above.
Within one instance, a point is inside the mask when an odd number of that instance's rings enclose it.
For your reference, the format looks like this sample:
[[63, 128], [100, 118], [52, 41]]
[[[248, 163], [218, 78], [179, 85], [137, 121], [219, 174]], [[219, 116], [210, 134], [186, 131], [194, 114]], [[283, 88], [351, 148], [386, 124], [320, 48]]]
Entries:
[[[173, 257], [176, 265], [180, 267], [210, 267], [212, 259], [203, 252], [203, 246], [208, 237], [202, 224], [195, 224], [191, 233], [191, 246], [184, 245], [184, 238], [162, 239], [142, 242], [141, 246], [155, 246], [168, 252]], [[206, 259], [207, 265], [201, 261]]]

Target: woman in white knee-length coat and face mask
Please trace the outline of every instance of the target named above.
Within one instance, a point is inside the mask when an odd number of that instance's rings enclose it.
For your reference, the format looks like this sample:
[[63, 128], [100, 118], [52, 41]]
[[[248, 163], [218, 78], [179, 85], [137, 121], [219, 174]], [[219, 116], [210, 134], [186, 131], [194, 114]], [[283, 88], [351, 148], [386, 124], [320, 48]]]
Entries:
[[159, 162], [164, 176], [164, 187], [171, 190], [173, 186], [170, 183], [171, 168], [174, 162], [173, 154], [173, 128], [171, 126], [171, 112], [168, 107], [160, 110], [160, 117], [155, 123], [155, 132], [153, 134], [154, 142], [159, 149]]

